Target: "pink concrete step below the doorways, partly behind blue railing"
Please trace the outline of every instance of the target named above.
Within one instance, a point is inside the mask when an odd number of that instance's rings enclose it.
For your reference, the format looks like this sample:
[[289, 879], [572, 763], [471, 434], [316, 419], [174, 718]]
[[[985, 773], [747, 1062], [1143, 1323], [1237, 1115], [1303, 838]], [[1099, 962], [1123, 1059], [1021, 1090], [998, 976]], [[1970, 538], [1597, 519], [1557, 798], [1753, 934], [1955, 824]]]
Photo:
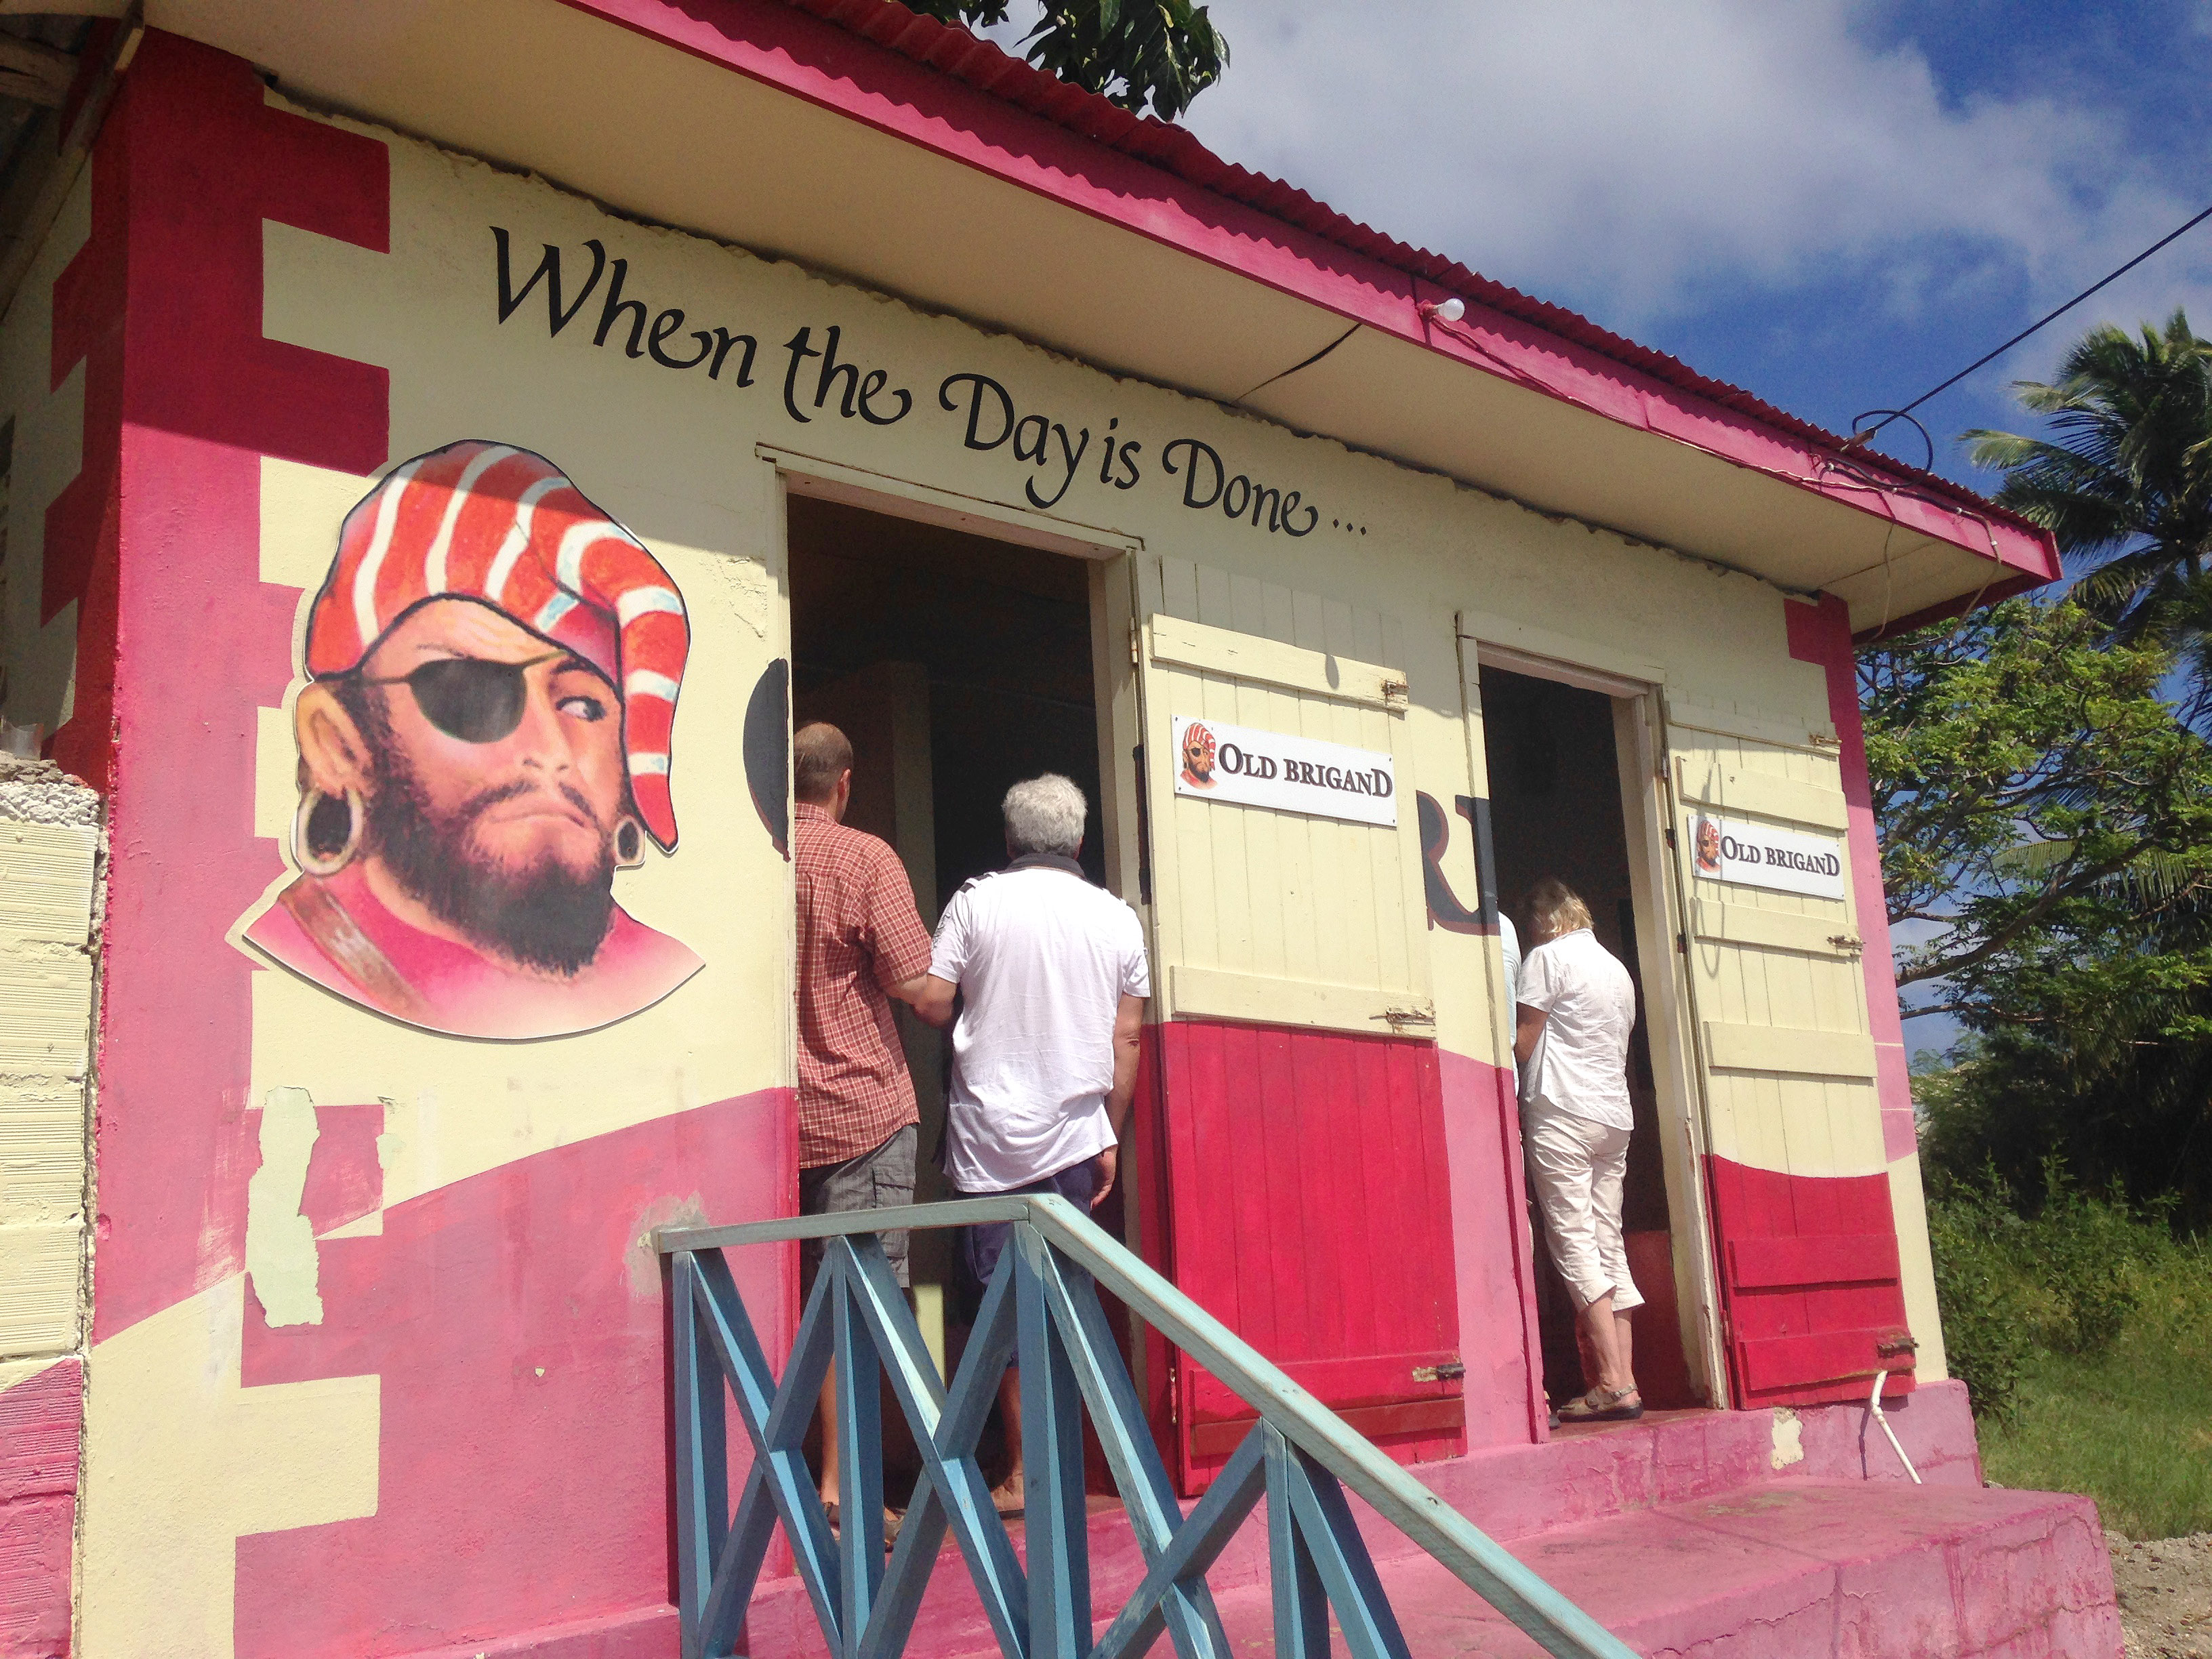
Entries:
[[[1863, 1407], [1699, 1411], [1582, 1429], [1413, 1469], [1632, 1648], [1688, 1659], [2119, 1659], [2110, 1559], [2086, 1498], [1984, 1489], [1964, 1394], [1893, 1411], [1927, 1484]], [[1354, 1502], [1356, 1509], [1363, 1509]], [[1022, 1548], [1015, 1524], [1015, 1548]], [[1537, 1652], [1473, 1590], [1363, 1511], [1413, 1655]], [[1099, 1630], [1144, 1577], [1119, 1506], [1091, 1517]], [[1272, 1650], [1267, 1528], [1210, 1573], [1239, 1659]], [[763, 1582], [754, 1659], [821, 1655], [796, 1579]], [[947, 1544], [909, 1655], [995, 1652]], [[1168, 1652], [1161, 1648], [1159, 1652]]]

